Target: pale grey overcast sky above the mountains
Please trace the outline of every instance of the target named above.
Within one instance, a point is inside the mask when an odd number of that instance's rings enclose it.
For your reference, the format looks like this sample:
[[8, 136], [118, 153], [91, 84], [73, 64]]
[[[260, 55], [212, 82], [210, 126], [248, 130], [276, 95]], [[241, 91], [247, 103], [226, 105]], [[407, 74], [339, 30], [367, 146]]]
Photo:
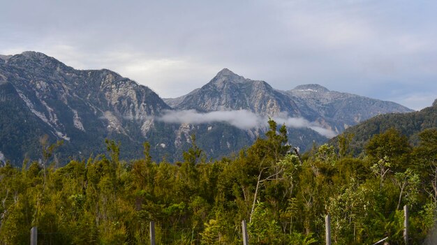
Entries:
[[163, 98], [222, 68], [415, 110], [437, 98], [437, 1], [0, 0], [0, 54], [109, 68]]

